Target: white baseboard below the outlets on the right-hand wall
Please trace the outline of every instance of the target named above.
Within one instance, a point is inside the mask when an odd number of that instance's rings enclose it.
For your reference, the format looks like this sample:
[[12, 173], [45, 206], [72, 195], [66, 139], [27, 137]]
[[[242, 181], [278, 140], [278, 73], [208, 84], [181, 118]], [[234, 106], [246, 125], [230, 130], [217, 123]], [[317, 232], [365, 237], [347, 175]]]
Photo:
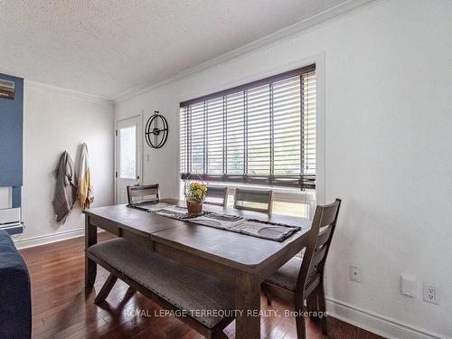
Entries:
[[430, 332], [330, 297], [326, 298], [326, 310], [334, 318], [388, 339], [447, 339], [445, 335]]

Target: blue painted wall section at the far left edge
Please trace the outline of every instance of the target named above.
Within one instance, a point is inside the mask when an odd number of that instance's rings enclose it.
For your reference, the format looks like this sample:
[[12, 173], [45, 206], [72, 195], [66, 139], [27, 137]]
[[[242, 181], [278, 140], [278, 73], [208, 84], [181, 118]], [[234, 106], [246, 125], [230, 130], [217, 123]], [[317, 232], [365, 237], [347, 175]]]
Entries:
[[21, 205], [23, 184], [24, 79], [0, 73], [14, 81], [14, 100], [0, 98], [0, 187], [13, 187], [13, 207]]

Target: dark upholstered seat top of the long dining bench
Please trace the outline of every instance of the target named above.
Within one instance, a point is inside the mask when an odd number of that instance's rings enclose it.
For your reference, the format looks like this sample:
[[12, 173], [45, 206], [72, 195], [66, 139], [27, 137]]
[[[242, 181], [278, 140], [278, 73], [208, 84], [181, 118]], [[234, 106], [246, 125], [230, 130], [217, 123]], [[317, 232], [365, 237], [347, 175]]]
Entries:
[[235, 290], [231, 285], [128, 240], [103, 241], [88, 251], [208, 328], [223, 319], [210, 310], [228, 311], [235, 306]]

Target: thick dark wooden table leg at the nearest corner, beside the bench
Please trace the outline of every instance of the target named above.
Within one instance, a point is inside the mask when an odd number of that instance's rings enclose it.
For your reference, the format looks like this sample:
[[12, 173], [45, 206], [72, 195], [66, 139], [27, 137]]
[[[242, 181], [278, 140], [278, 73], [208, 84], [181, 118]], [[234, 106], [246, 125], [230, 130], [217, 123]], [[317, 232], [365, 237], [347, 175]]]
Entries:
[[260, 337], [260, 282], [259, 276], [238, 272], [236, 278], [237, 317], [235, 323], [236, 339], [255, 339]]

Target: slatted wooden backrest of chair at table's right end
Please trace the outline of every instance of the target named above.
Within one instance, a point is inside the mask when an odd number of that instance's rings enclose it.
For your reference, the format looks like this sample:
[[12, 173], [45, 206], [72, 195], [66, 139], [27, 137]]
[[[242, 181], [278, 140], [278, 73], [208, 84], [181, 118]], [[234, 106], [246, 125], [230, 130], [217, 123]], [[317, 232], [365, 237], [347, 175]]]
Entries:
[[322, 283], [325, 261], [336, 226], [341, 200], [317, 206], [312, 221], [306, 251], [297, 278], [296, 297], [306, 298]]

